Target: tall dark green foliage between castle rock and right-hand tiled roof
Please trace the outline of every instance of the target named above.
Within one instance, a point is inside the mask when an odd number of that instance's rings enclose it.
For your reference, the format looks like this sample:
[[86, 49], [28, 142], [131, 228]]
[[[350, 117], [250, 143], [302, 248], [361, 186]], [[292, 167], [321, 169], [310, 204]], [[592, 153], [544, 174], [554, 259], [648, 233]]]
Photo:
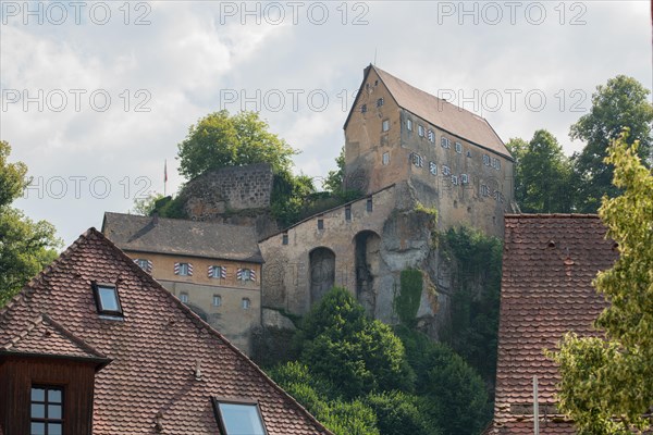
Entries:
[[488, 382], [494, 381], [503, 245], [469, 227], [440, 235], [441, 252], [454, 260], [457, 283], [452, 297], [452, 326], [444, 340]]

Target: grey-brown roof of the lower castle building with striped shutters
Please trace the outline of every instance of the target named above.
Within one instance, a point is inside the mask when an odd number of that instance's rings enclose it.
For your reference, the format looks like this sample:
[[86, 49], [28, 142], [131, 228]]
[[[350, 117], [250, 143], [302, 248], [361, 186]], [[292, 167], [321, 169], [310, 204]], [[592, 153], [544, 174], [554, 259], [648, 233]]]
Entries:
[[263, 262], [249, 226], [107, 212], [102, 233], [128, 251]]

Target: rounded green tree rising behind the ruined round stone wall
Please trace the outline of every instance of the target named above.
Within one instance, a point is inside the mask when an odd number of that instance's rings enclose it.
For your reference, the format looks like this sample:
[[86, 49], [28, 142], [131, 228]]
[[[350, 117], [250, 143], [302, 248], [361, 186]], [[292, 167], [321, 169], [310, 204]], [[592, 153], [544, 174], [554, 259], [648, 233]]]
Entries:
[[180, 172], [194, 178], [209, 170], [252, 163], [269, 163], [274, 173], [289, 172], [297, 151], [268, 128], [256, 112], [210, 113], [192, 125], [178, 145]]

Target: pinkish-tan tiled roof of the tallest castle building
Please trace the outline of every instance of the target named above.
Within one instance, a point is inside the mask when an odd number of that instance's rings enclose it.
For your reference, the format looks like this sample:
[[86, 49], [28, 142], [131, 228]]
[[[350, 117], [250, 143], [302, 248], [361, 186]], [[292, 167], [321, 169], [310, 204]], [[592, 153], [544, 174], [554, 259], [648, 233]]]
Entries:
[[[424, 92], [378, 66], [369, 65], [366, 69], [359, 92], [362, 91], [368, 75], [372, 70], [377, 72], [401, 108], [452, 135], [456, 135], [475, 145], [512, 159], [510, 152], [485, 119], [446, 102], [431, 94]], [[353, 107], [349, 111], [349, 115], [345, 122], [345, 128], [355, 110], [356, 108]]]

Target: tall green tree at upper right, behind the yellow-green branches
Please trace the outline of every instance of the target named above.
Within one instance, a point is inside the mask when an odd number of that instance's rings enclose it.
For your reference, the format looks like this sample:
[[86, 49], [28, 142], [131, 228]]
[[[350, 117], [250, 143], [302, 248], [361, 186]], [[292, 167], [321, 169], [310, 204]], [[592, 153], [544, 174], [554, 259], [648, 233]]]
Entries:
[[590, 113], [571, 126], [571, 139], [586, 142], [583, 150], [572, 158], [578, 211], [595, 213], [603, 195], [611, 198], [619, 195], [620, 189], [611, 183], [613, 169], [605, 157], [608, 145], [624, 128], [630, 130], [627, 142], [631, 145], [639, 140], [638, 156], [648, 167], [651, 166], [653, 105], [648, 101], [649, 94], [650, 90], [634, 78], [618, 75], [605, 86], [596, 87]]

